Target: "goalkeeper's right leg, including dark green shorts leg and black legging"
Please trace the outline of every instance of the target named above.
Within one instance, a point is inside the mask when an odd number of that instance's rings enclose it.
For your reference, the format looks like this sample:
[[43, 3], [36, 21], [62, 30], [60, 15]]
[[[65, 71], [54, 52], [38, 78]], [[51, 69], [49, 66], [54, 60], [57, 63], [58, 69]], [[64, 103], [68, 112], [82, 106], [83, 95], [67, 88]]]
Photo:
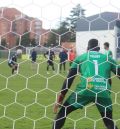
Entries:
[[[101, 114], [101, 117], [103, 118], [103, 122], [107, 129], [118, 129], [115, 126], [115, 123], [113, 121], [112, 117], [112, 101], [111, 98], [97, 98], [96, 106]], [[100, 106], [102, 105], [102, 106]], [[105, 107], [107, 109], [105, 110]]]

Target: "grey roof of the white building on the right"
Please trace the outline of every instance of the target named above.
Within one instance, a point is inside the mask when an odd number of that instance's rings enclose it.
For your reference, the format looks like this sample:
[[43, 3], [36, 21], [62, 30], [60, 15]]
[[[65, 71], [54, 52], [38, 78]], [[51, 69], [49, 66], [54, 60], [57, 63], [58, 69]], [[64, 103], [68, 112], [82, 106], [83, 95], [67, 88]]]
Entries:
[[113, 30], [114, 26], [120, 28], [120, 13], [103, 12], [78, 19], [76, 31]]

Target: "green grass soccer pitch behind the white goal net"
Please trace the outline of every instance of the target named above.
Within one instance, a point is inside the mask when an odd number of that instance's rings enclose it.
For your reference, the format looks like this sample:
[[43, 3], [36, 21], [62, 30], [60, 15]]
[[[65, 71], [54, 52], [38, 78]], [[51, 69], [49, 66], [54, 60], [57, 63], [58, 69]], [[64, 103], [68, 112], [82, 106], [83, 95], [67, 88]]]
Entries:
[[[30, 61], [24, 61], [19, 67], [18, 74], [11, 76], [11, 69], [7, 61], [0, 64], [0, 129], [51, 129], [55, 92], [59, 92], [67, 75], [46, 74], [46, 62], [38, 65], [38, 69], [31, 68]], [[37, 65], [36, 65], [37, 66]], [[55, 68], [57, 69], [57, 62]], [[40, 75], [39, 75], [40, 74]], [[5, 78], [5, 77], [6, 78]], [[80, 76], [77, 76], [71, 87], [75, 89]], [[113, 100], [113, 117], [120, 128], [120, 82], [112, 79], [111, 94]], [[67, 96], [71, 93], [68, 92]], [[66, 96], [66, 97], [67, 97]], [[82, 110], [71, 113], [63, 129], [105, 129], [97, 108], [92, 103]]]

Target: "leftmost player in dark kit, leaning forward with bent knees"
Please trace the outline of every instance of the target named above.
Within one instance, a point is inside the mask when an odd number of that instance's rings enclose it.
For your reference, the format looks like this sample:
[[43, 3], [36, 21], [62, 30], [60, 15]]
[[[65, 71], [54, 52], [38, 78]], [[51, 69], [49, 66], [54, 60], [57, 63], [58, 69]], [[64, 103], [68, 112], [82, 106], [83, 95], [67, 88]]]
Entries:
[[12, 57], [8, 61], [8, 66], [12, 68], [12, 74], [14, 74], [14, 72], [17, 71], [17, 54], [12, 55]]

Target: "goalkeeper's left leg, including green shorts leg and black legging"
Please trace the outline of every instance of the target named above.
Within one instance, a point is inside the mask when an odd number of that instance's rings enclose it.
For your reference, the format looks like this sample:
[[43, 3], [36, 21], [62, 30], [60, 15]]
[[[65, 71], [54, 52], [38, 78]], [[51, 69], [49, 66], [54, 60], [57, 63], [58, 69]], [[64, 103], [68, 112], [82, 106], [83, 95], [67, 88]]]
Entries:
[[93, 98], [91, 97], [84, 97], [79, 95], [77, 95], [76, 97], [76, 94], [72, 93], [57, 114], [52, 129], [61, 129], [68, 114], [77, 109], [82, 109], [85, 105], [89, 104], [92, 101]]

